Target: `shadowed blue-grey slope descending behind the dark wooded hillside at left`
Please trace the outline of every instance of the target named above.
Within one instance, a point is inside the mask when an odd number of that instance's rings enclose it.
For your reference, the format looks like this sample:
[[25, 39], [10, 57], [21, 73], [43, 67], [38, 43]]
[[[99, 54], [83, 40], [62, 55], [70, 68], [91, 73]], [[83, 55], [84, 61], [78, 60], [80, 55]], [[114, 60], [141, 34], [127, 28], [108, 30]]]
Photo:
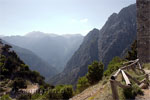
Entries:
[[[2, 41], [4, 44], [10, 44], [5, 41]], [[45, 79], [49, 79], [50, 77], [56, 75], [57, 70], [52, 67], [47, 62], [43, 61], [40, 57], [34, 54], [32, 51], [12, 45], [12, 49], [17, 53], [21, 60], [24, 61], [25, 64], [30, 66], [31, 70], [38, 71]]]

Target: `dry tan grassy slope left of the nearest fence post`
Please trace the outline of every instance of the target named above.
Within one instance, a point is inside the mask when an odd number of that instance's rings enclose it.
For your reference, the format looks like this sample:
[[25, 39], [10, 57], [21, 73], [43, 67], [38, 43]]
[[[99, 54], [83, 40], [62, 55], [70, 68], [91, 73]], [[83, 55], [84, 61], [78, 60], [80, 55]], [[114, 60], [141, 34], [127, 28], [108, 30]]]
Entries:
[[104, 85], [103, 82], [100, 82], [91, 86], [70, 100], [105, 100], [105, 98], [112, 100], [109, 82]]

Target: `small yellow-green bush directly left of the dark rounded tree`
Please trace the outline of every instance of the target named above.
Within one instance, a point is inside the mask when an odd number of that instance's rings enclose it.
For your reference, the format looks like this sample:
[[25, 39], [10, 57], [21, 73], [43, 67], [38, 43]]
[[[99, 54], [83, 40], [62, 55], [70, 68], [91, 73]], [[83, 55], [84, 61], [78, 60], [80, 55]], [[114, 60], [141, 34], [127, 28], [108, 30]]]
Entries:
[[88, 79], [84, 77], [80, 77], [77, 83], [77, 92], [82, 92], [89, 86]]

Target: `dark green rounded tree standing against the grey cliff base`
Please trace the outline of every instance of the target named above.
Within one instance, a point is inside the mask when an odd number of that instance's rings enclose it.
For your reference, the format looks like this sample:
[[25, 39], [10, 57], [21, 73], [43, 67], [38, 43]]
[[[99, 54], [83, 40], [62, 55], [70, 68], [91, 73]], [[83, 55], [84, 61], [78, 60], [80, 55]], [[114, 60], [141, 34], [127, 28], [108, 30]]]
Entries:
[[103, 77], [104, 65], [102, 62], [94, 61], [92, 65], [88, 66], [88, 73], [86, 75], [90, 84], [95, 84]]

